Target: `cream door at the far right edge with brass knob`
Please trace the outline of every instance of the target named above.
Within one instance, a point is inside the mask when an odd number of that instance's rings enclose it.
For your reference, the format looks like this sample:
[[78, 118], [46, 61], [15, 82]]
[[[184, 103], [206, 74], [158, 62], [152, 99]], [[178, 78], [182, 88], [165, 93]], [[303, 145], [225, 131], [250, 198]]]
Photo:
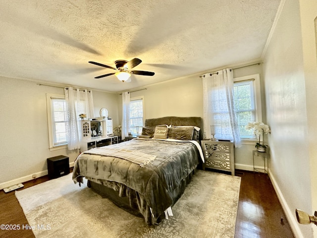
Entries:
[[[317, 1], [300, 0], [303, 59], [305, 74], [306, 107], [308, 122], [308, 153], [310, 158], [311, 215], [317, 210]], [[301, 206], [304, 204], [300, 204]], [[317, 238], [317, 227], [311, 225]], [[308, 230], [309, 228], [302, 228]]]

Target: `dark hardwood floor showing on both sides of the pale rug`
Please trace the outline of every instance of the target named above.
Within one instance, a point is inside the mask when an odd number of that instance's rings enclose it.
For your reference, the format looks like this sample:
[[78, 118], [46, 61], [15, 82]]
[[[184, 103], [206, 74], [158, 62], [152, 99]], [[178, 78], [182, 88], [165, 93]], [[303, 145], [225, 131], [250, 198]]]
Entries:
[[[276, 193], [264, 174], [236, 171], [241, 177], [235, 238], [294, 238]], [[49, 180], [44, 176], [24, 182], [24, 188]], [[22, 229], [28, 224], [14, 191], [0, 191], [0, 224], [20, 225], [20, 230], [0, 230], [1, 238], [34, 238]], [[281, 222], [281, 217], [282, 222]]]

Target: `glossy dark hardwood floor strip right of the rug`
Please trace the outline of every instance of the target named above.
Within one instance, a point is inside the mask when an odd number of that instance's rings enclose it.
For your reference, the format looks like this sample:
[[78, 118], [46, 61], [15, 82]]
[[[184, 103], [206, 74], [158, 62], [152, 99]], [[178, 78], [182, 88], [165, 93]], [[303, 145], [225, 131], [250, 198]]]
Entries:
[[236, 176], [241, 187], [235, 238], [294, 238], [267, 175], [236, 170]]

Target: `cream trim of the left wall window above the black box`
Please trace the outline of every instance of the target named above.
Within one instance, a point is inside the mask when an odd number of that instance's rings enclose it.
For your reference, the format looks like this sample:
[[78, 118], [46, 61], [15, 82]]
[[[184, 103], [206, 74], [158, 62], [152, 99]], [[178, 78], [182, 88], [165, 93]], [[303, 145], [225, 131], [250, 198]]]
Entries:
[[46, 105], [47, 105], [47, 116], [48, 116], [48, 128], [49, 128], [49, 142], [50, 142], [50, 151], [65, 149], [67, 148], [66, 144], [54, 145], [54, 133], [53, 133], [53, 123], [52, 123], [52, 99], [65, 99], [65, 95], [59, 94], [46, 94]]

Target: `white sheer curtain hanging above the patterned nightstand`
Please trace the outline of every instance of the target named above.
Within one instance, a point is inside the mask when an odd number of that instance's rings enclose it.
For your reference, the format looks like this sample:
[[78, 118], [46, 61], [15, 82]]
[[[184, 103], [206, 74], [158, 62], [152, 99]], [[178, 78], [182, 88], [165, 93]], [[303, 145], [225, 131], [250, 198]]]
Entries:
[[233, 72], [229, 68], [203, 75], [204, 138], [234, 140], [241, 146], [233, 101]]

